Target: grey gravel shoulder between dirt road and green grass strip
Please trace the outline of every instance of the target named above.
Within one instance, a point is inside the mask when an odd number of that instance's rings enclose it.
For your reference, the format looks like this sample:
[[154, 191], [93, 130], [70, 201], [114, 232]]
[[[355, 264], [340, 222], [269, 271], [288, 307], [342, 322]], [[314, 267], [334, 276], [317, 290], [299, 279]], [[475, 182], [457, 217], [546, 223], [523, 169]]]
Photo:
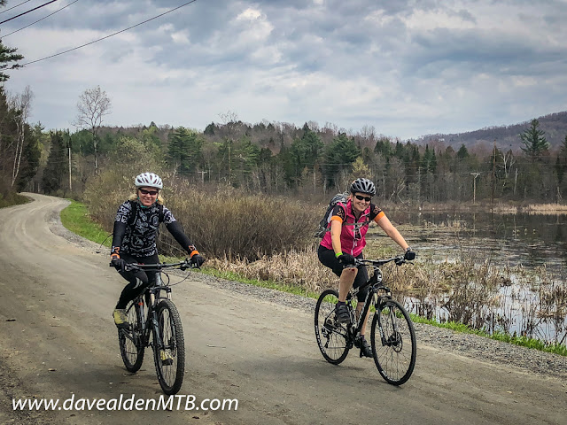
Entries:
[[[101, 249], [96, 243], [77, 236], [64, 228], [61, 225], [58, 214], [54, 214], [51, 217], [50, 228], [56, 235], [65, 237], [69, 242], [81, 246], [86, 251], [96, 252], [105, 256], [109, 255], [107, 248], [104, 246]], [[220, 290], [229, 290], [247, 297], [296, 308], [306, 313], [313, 314], [315, 311], [315, 299], [303, 298], [286, 292], [269, 290], [241, 282], [227, 281], [207, 274], [193, 273], [190, 278], [205, 282]], [[543, 376], [555, 376], [567, 380], [567, 357], [421, 323], [416, 323], [415, 328], [418, 345], [430, 345], [466, 357], [500, 363], [508, 367], [523, 369], [525, 372]]]

